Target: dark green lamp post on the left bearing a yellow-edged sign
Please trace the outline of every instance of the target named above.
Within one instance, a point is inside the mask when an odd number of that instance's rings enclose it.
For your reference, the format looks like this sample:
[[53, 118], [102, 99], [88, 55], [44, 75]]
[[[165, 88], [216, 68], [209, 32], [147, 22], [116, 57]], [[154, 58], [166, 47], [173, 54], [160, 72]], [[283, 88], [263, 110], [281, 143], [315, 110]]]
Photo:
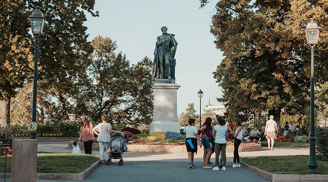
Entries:
[[[31, 20], [32, 33], [35, 36], [35, 51], [34, 51], [34, 76], [33, 76], [33, 103], [32, 103], [32, 122], [36, 122], [36, 83], [38, 77], [38, 44], [39, 35], [43, 32], [43, 27], [46, 19], [43, 16], [41, 8], [35, 7], [29, 19]], [[30, 139], [36, 139], [36, 131], [30, 132]]]

